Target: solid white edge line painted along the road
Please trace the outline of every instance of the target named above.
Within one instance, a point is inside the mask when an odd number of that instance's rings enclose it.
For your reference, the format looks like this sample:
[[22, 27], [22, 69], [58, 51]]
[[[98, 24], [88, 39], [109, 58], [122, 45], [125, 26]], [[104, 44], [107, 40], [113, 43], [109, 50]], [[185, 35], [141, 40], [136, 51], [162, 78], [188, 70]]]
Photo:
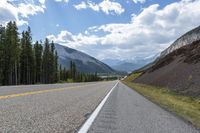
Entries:
[[101, 103], [98, 105], [98, 107], [94, 110], [94, 112], [90, 115], [90, 117], [86, 120], [86, 122], [82, 125], [78, 133], [87, 133], [88, 130], [90, 129], [90, 126], [94, 122], [95, 118], [99, 114], [101, 108], [105, 104], [106, 100], [110, 96], [111, 92], [114, 90], [114, 88], [117, 86], [119, 81], [114, 85], [114, 87], [108, 92], [108, 94], [104, 97], [104, 99], [101, 101]]

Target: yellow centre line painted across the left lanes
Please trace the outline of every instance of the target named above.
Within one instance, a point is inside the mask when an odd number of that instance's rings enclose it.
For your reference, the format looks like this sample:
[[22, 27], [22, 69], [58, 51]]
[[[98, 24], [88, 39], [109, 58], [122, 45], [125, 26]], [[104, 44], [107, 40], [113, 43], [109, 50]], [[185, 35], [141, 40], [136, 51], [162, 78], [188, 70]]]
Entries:
[[0, 100], [1, 99], [14, 98], [14, 97], [27, 96], [27, 95], [35, 95], [35, 94], [47, 93], [47, 92], [64, 91], [64, 90], [69, 90], [69, 89], [74, 89], [74, 88], [81, 88], [81, 87], [85, 87], [85, 86], [90, 86], [90, 85], [71, 86], [71, 87], [67, 87], [67, 88], [57, 88], [57, 89], [49, 89], [49, 90], [30, 91], [30, 92], [25, 92], [25, 93], [9, 94], [9, 95], [0, 96]]

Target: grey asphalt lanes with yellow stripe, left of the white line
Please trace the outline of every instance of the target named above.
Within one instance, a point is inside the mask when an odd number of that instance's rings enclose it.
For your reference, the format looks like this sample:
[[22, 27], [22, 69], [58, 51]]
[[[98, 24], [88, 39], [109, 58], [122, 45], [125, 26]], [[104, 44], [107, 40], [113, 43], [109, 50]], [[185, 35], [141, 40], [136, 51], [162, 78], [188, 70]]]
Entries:
[[77, 132], [116, 82], [0, 87], [0, 133]]

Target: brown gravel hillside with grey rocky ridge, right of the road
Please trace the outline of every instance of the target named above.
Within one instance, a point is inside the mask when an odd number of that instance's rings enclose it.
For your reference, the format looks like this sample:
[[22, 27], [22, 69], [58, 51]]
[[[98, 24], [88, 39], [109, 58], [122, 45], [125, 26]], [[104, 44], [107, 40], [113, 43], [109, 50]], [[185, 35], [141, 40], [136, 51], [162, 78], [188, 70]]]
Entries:
[[170, 47], [177, 49], [171, 49], [171, 52], [159, 58], [133, 82], [166, 87], [184, 95], [200, 96], [200, 39], [196, 38], [200, 32], [197, 29], [199, 27], [180, 37], [179, 43], [175, 41]]

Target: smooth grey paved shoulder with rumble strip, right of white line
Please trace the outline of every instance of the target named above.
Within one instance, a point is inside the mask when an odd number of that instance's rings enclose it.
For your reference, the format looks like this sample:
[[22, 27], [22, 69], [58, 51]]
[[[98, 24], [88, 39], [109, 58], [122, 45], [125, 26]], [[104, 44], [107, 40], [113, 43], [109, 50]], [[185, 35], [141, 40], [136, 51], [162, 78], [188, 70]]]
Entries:
[[199, 133], [143, 96], [119, 83], [89, 133]]

